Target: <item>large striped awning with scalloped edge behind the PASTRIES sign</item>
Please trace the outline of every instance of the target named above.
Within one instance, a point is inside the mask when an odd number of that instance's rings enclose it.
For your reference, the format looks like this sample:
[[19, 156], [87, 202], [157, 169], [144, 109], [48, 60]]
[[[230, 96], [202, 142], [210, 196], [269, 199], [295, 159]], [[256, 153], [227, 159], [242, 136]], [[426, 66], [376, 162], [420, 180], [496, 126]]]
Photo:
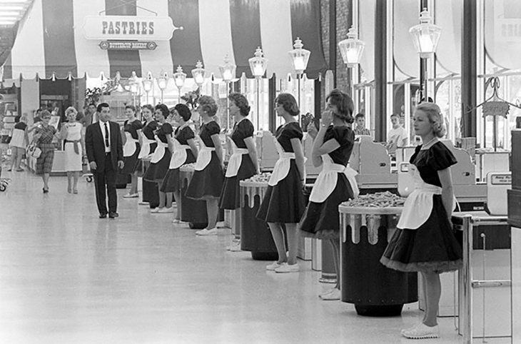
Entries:
[[[155, 50], [114, 51], [86, 39], [86, 16], [155, 16], [183, 27]], [[169, 75], [178, 65], [188, 76], [196, 61], [219, 76], [228, 55], [236, 76], [251, 76], [248, 59], [260, 46], [268, 59], [267, 76], [292, 72], [288, 51], [300, 37], [311, 51], [306, 74], [327, 69], [320, 39], [320, 1], [315, 0], [35, 0], [21, 22], [4, 79]]]

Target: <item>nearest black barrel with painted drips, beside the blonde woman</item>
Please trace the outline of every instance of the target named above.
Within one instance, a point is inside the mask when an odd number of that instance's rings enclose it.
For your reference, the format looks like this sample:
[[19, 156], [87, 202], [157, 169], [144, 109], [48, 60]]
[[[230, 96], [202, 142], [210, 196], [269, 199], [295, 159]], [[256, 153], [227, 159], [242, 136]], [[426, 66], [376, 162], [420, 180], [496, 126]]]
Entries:
[[404, 303], [418, 301], [418, 273], [380, 263], [398, 224], [401, 207], [365, 208], [340, 204], [341, 297], [358, 315], [400, 315]]

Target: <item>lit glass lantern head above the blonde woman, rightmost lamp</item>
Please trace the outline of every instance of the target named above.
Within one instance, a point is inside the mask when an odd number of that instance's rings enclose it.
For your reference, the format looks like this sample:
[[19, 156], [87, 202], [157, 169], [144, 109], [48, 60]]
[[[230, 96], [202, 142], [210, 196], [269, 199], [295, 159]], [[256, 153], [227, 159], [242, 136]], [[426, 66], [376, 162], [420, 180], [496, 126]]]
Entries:
[[433, 17], [428, 9], [420, 13], [420, 24], [409, 29], [413, 36], [413, 43], [420, 58], [428, 59], [436, 51], [437, 41], [440, 39], [441, 28], [433, 24]]

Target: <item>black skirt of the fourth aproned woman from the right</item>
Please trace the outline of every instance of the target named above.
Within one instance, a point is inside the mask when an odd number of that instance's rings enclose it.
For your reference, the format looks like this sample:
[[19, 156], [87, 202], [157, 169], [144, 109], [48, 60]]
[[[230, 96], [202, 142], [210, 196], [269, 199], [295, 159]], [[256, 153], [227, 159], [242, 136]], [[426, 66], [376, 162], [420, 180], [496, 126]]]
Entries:
[[241, 208], [241, 188], [239, 183], [255, 175], [255, 173], [255, 166], [253, 166], [249, 154], [243, 154], [237, 176], [224, 178], [223, 191], [219, 198], [219, 208], [229, 210]]

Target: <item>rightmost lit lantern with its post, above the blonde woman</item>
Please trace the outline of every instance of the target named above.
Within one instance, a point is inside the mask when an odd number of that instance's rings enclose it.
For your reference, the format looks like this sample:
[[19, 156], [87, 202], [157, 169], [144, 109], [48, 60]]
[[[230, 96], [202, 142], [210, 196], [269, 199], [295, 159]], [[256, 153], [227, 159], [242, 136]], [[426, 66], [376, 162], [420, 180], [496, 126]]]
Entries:
[[436, 51], [437, 41], [440, 39], [441, 28], [433, 24], [433, 18], [428, 9], [423, 9], [420, 13], [420, 24], [409, 29], [413, 36], [413, 43], [416, 51], [420, 54], [420, 99], [428, 99], [427, 96], [427, 61]]

